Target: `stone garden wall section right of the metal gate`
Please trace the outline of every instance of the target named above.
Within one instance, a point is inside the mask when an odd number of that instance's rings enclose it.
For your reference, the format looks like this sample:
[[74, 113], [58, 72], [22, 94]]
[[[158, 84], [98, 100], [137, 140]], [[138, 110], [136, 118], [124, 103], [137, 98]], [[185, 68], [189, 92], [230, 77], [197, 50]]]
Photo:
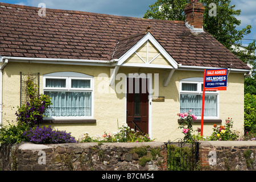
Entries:
[[203, 141], [199, 160], [208, 171], [256, 171], [256, 142]]

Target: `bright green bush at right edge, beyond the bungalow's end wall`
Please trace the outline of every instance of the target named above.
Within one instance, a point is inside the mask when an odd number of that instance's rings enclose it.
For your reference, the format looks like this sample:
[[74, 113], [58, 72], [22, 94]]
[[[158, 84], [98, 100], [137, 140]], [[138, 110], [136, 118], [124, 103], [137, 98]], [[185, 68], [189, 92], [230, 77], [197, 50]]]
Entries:
[[250, 131], [251, 127], [256, 125], [256, 96], [252, 94], [245, 94], [244, 105], [245, 118], [245, 132]]

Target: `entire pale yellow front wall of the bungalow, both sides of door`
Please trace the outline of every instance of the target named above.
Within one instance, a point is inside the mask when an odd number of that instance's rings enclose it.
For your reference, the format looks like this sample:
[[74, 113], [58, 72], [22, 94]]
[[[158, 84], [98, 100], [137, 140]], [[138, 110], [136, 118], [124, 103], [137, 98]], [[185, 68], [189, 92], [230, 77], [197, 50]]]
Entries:
[[[109, 86], [110, 67], [91, 67], [81, 65], [57, 65], [57, 64], [33, 64], [33, 63], [8, 63], [3, 70], [3, 125], [7, 120], [15, 121], [15, 111], [19, 106], [20, 98], [20, 72], [40, 73], [40, 93], [43, 92], [43, 75], [52, 72], [79, 72], [94, 77], [94, 119], [96, 123], [79, 124], [51, 124], [55, 129], [71, 132], [76, 139], [84, 133], [91, 137], [100, 134], [113, 133], [117, 126], [125, 122], [125, 93], [117, 93]], [[106, 77], [102, 76], [102, 73]], [[175, 71], [167, 87], [163, 86], [169, 71], [164, 69], [150, 68], [120, 68], [118, 73], [154, 73], [159, 74], [159, 96], [164, 96], [164, 102], [152, 102], [152, 138], [166, 142], [168, 139], [182, 138], [177, 123], [179, 113], [179, 81], [188, 77], [203, 77], [203, 72]], [[106, 92], [101, 93], [98, 89], [105, 79]], [[152, 79], [154, 88], [154, 77]], [[119, 80], [115, 81], [115, 86]], [[243, 131], [243, 74], [230, 73], [228, 77], [228, 88], [220, 91], [220, 119], [224, 125], [225, 119], [233, 118], [234, 129]], [[117, 122], [118, 121], [118, 122]], [[205, 124], [204, 134], [212, 132], [214, 123]], [[200, 127], [200, 123], [194, 125], [194, 129]]]

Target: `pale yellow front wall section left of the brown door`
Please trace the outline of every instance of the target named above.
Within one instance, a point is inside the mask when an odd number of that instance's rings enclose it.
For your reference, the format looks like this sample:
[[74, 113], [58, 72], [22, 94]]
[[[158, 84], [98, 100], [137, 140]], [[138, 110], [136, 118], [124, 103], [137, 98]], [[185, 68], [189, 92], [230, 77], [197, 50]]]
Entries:
[[[19, 106], [20, 98], [20, 71], [24, 74], [28, 73], [40, 73], [40, 93], [43, 92], [43, 75], [52, 72], [79, 72], [86, 75], [94, 76], [94, 118], [97, 119], [97, 123], [88, 124], [51, 124], [56, 126], [59, 130], [66, 130], [72, 132], [72, 135], [76, 138], [80, 137], [82, 133], [90, 133], [93, 136], [96, 134], [103, 134], [104, 131], [117, 131], [117, 119], [119, 126], [124, 121], [124, 111], [120, 109], [114, 109], [123, 107], [123, 101], [117, 99], [117, 94], [97, 93], [98, 82], [102, 80], [108, 80], [106, 86], [109, 86], [110, 68], [109, 67], [88, 67], [88, 66], [71, 66], [71, 65], [56, 65], [56, 64], [26, 64], [26, 63], [9, 63], [3, 72], [3, 125], [8, 121], [16, 121], [15, 111]], [[108, 77], [100, 77], [100, 73], [105, 73]], [[114, 105], [112, 103], [114, 102]], [[113, 107], [110, 107], [110, 106]], [[97, 108], [97, 109], [96, 109]], [[111, 121], [111, 122], [110, 122]]]

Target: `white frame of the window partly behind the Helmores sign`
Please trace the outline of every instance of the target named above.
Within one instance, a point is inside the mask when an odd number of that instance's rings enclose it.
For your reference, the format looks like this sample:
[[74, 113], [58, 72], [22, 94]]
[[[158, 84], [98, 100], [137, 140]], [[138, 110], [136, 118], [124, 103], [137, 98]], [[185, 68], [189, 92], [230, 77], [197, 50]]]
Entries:
[[[197, 91], [187, 91], [182, 90], [182, 84], [197, 84]], [[204, 84], [204, 78], [203, 77], [193, 77], [193, 78], [185, 78], [183, 80], [180, 80], [179, 85], [179, 101], [180, 101], [180, 95], [181, 94], [195, 94], [195, 95], [203, 95], [202, 91], [202, 84]], [[205, 117], [204, 119], [219, 119], [220, 118], [220, 104], [219, 104], [219, 91], [205, 91], [205, 96], [207, 95], [214, 95], [217, 96], [217, 116], [212, 117]], [[180, 112], [180, 102], [179, 102], [179, 112]], [[192, 110], [193, 114], [193, 110]], [[197, 119], [201, 119], [201, 116], [196, 116]]]

